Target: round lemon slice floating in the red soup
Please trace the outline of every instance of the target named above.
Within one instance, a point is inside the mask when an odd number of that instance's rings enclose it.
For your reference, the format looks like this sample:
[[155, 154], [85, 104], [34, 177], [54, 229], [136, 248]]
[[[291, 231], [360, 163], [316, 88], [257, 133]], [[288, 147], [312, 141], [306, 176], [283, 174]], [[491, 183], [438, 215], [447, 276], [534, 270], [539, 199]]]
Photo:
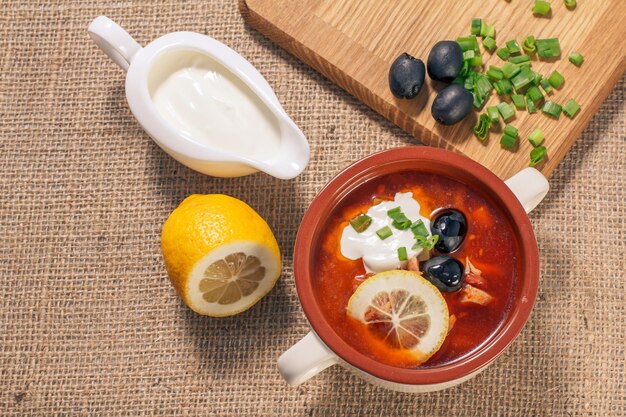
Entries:
[[365, 280], [348, 301], [348, 314], [390, 346], [428, 360], [448, 333], [448, 306], [439, 290], [416, 272], [381, 272]]

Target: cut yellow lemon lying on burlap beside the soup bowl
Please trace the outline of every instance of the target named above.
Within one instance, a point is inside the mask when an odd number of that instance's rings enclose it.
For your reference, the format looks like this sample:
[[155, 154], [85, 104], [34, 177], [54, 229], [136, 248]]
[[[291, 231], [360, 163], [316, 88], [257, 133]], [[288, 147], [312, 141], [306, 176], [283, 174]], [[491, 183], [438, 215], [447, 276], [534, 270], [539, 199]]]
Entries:
[[280, 250], [265, 220], [241, 200], [194, 194], [163, 225], [161, 250], [185, 304], [207, 316], [252, 307], [280, 276]]

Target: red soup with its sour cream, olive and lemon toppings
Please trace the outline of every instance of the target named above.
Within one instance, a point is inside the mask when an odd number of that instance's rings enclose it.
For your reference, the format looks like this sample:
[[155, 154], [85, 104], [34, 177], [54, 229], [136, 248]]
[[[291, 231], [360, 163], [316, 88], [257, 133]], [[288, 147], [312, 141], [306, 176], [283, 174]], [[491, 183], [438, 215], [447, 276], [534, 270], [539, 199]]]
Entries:
[[[509, 217], [488, 195], [441, 175], [404, 171], [341, 199], [314, 249], [312, 283], [325, 319], [347, 344], [388, 365], [434, 367], [471, 354], [502, 326], [521, 276], [519, 254]], [[419, 291], [410, 298], [409, 289], [384, 282], [362, 300], [359, 287], [394, 270], [429, 281], [428, 291], [443, 297], [447, 311], [428, 312]], [[351, 312], [364, 302], [372, 305], [361, 316]], [[438, 320], [441, 314], [447, 316]], [[440, 343], [415, 354], [420, 338], [435, 337], [434, 330]]]

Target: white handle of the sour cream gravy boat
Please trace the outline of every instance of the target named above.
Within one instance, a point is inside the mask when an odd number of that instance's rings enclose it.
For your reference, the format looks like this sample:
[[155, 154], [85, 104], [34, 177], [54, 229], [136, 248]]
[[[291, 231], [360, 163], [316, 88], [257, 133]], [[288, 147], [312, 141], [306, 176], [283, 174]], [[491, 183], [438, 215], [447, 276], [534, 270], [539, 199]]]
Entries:
[[87, 32], [96, 45], [124, 71], [128, 71], [133, 56], [141, 50], [141, 45], [128, 32], [106, 16], [95, 18]]

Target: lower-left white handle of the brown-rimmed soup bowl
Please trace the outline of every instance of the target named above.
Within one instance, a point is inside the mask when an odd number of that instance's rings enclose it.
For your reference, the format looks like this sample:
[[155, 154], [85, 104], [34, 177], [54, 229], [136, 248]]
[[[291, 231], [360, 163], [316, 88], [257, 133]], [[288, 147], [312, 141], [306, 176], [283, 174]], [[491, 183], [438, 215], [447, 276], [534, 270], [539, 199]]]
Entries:
[[338, 357], [313, 332], [278, 358], [278, 370], [291, 386], [302, 384], [338, 362]]

